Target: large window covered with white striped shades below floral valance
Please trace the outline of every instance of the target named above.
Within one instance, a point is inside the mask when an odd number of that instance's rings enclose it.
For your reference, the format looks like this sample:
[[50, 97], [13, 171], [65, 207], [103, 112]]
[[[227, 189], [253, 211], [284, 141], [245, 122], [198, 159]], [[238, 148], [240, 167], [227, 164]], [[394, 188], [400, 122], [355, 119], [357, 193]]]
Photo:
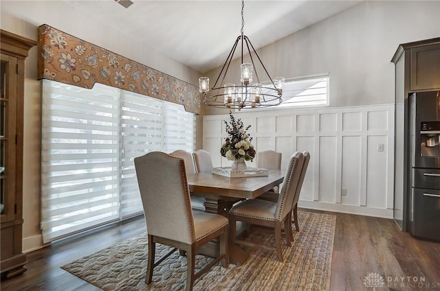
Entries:
[[95, 84], [43, 80], [43, 241], [142, 212], [133, 159], [195, 150], [183, 106]]

